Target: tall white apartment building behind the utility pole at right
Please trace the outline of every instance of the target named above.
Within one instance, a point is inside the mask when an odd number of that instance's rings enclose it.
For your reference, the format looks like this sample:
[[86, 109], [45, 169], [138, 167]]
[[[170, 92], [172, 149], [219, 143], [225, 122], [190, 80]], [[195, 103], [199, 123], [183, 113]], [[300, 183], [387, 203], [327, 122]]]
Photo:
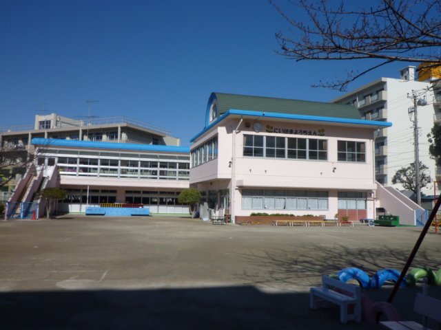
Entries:
[[[425, 79], [425, 80], [424, 80]], [[420, 81], [422, 80], [422, 81]], [[440, 90], [441, 91], [441, 90]], [[420, 76], [416, 80], [416, 68], [400, 70], [400, 78], [379, 78], [350, 91], [332, 103], [353, 104], [358, 107], [362, 119], [392, 122], [393, 126], [379, 129], [375, 139], [376, 180], [384, 186], [392, 185], [392, 177], [402, 167], [414, 162], [413, 95], [427, 100], [426, 106], [418, 106], [420, 162], [429, 168], [435, 180], [435, 161], [429, 154], [427, 134], [434, 122], [441, 122], [441, 96], [431, 89], [431, 77]], [[424, 195], [433, 195], [433, 184], [422, 188]]]

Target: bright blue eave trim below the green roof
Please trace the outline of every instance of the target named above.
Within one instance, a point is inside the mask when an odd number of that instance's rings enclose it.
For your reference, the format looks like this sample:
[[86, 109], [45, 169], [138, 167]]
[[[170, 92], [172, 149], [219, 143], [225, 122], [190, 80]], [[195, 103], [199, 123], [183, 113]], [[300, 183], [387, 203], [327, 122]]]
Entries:
[[392, 126], [391, 122], [380, 122], [375, 120], [361, 120], [361, 119], [350, 119], [350, 118], [334, 118], [334, 117], [321, 117], [318, 115], [296, 115], [287, 113], [274, 113], [274, 112], [260, 112], [260, 111], [248, 111], [248, 110], [229, 110], [220, 116], [217, 120], [205, 127], [201, 133], [194, 136], [190, 142], [194, 142], [198, 137], [203, 135], [209, 129], [216, 126], [219, 122], [227, 118], [229, 115], [248, 115], [254, 117], [264, 117], [264, 118], [283, 118], [291, 120], [305, 120], [310, 122], [328, 122], [328, 123], [338, 123], [338, 124], [353, 124], [360, 126], [371, 126], [372, 129], [376, 128], [387, 128]]

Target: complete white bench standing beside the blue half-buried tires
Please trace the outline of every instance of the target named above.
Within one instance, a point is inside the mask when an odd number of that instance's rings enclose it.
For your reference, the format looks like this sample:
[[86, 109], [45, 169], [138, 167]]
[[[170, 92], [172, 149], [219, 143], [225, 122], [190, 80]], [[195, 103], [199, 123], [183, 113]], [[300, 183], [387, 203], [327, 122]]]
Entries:
[[[335, 292], [329, 289], [330, 286], [338, 287], [351, 294], [351, 296]], [[322, 276], [322, 287], [311, 287], [310, 289], [311, 309], [317, 308], [317, 298], [340, 305], [340, 321], [342, 323], [347, 323], [348, 320], [361, 322], [361, 289], [358, 285], [351, 285], [329, 276]], [[354, 305], [353, 314], [348, 314], [349, 305]]]

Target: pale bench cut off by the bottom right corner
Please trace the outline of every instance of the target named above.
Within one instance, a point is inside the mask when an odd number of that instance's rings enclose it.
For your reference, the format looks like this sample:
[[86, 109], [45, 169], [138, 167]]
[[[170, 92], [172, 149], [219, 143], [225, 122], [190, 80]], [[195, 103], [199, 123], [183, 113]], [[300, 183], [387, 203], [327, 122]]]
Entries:
[[422, 325], [413, 321], [382, 321], [380, 325], [391, 330], [430, 330], [427, 327], [427, 318], [441, 322], [441, 300], [417, 294], [413, 311], [423, 316]]

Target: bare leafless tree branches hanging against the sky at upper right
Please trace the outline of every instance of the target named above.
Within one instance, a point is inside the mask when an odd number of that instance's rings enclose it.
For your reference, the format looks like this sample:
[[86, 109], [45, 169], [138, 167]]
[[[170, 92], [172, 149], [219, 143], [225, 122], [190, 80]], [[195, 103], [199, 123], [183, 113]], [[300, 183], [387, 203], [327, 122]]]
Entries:
[[268, 1], [291, 25], [289, 34], [276, 33], [278, 54], [295, 61], [382, 61], [314, 87], [345, 91], [353, 80], [393, 62], [427, 63], [423, 69], [441, 65], [440, 0], [377, 0], [376, 8], [356, 10], [346, 10], [344, 2], [334, 9], [329, 0], [287, 0], [304, 10], [307, 19], [302, 21], [289, 17], [276, 0]]

